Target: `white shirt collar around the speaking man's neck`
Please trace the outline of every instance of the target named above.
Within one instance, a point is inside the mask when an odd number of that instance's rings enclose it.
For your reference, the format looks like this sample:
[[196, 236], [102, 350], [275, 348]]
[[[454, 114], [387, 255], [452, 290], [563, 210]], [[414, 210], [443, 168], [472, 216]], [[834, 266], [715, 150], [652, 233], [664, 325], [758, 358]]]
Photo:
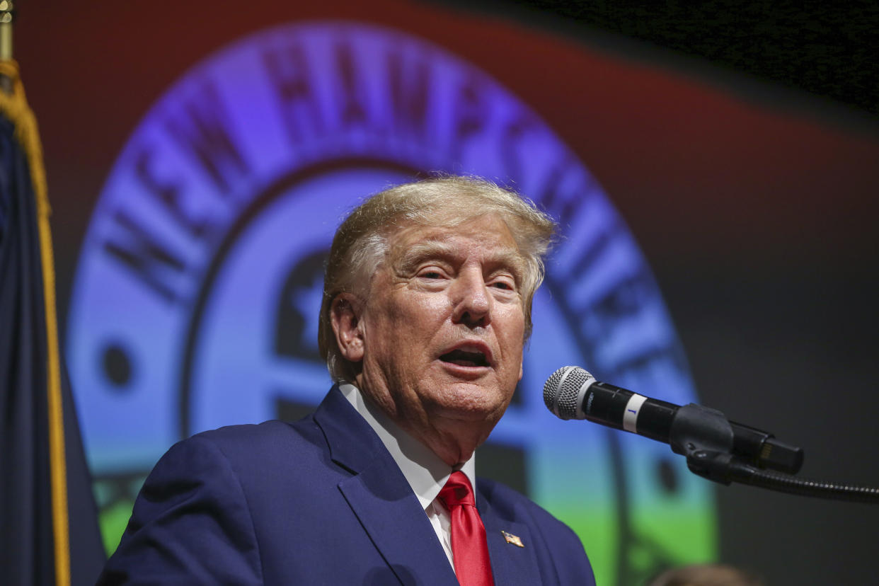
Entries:
[[[381, 443], [390, 452], [391, 458], [400, 467], [412, 492], [418, 496], [418, 502], [421, 503], [422, 508], [427, 509], [433, 499], [439, 495], [439, 490], [446, 485], [454, 469], [418, 439], [401, 430], [381, 409], [367, 402], [359, 388], [348, 382], [339, 383], [338, 388], [345, 399], [373, 428]], [[476, 494], [476, 454], [470, 456], [470, 459], [458, 469], [467, 476]]]

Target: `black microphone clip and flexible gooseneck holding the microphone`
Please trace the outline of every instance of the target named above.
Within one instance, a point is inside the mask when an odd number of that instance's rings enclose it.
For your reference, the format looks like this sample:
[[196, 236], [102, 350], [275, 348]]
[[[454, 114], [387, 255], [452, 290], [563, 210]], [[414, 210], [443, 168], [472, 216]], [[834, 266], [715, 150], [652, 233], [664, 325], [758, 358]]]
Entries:
[[[810, 481], [762, 469], [763, 466], [776, 467], [796, 474], [803, 460], [800, 457], [795, 461], [773, 462], [769, 458], [745, 458], [736, 453], [733, 437], [732, 426], [723, 413], [690, 403], [681, 407], [674, 417], [669, 443], [672, 452], [686, 456], [686, 467], [690, 472], [710, 481], [724, 485], [740, 482], [794, 495], [840, 501], [879, 503], [879, 488]], [[772, 438], [769, 434], [765, 437]], [[772, 448], [772, 444], [764, 444], [764, 452]], [[799, 448], [792, 450], [800, 452]]]

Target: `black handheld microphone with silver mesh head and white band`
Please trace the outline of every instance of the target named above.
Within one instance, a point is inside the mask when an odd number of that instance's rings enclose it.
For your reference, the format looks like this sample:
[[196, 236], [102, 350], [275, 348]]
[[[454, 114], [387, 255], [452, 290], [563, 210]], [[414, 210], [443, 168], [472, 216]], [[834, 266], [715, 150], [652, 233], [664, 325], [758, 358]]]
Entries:
[[553, 373], [543, 385], [543, 402], [562, 419], [588, 419], [630, 431], [671, 444], [673, 452], [688, 456], [704, 443], [720, 445], [761, 468], [796, 474], [803, 466], [803, 450], [781, 443], [771, 433], [730, 422], [716, 409], [694, 403], [681, 407], [599, 382], [579, 366]]

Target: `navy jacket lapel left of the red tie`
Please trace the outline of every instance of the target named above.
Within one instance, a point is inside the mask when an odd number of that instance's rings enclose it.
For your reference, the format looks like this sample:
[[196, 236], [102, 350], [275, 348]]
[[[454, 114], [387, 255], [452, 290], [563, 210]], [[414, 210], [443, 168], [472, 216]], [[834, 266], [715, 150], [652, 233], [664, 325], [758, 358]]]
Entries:
[[456, 585], [439, 539], [400, 468], [369, 424], [333, 388], [315, 413], [331, 459], [352, 472], [345, 501], [403, 584]]

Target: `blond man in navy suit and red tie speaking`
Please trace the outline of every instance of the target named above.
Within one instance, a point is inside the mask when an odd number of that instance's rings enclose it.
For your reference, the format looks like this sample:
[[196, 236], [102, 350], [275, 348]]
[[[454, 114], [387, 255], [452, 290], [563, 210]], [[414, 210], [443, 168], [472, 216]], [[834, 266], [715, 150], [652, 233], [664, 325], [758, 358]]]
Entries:
[[301, 421], [172, 447], [101, 582], [594, 584], [570, 529], [475, 476], [522, 375], [553, 230], [478, 179], [367, 199], [324, 279], [336, 386]]

